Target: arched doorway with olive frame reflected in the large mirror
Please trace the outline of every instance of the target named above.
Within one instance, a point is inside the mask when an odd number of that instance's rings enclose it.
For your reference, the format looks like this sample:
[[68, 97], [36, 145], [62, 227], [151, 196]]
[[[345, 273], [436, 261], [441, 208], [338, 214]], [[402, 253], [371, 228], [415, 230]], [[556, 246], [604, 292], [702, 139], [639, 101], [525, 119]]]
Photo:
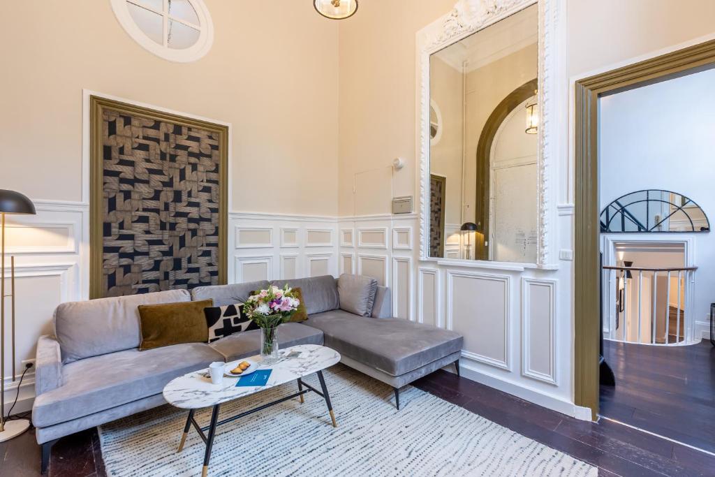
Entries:
[[477, 260], [536, 262], [538, 205], [514, 200], [536, 197], [534, 143], [538, 139], [537, 134], [525, 132], [526, 104], [533, 99], [536, 87], [537, 81], [532, 79], [508, 94], [480, 134], [475, 202], [481, 228], [476, 240]]

